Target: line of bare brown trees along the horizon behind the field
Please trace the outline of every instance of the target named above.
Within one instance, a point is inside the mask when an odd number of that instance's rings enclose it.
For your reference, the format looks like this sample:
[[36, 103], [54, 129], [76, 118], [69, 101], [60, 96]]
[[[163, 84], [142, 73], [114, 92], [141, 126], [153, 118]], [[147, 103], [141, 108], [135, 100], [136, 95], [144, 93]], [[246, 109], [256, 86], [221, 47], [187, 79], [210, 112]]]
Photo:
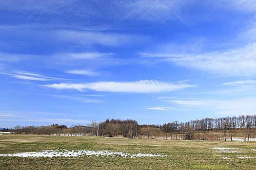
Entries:
[[[129, 138], [169, 138], [189, 140], [220, 140], [231, 138], [238, 132], [243, 136], [256, 134], [256, 115], [238, 117], [204, 118], [187, 122], [173, 121], [162, 125], [140, 125], [136, 120], [106, 119], [103, 122], [92, 121], [88, 125], [52, 124], [50, 126], [15, 126], [10, 129], [16, 134], [38, 134], [59, 136], [120, 136]], [[209, 134], [211, 134], [209, 136]]]

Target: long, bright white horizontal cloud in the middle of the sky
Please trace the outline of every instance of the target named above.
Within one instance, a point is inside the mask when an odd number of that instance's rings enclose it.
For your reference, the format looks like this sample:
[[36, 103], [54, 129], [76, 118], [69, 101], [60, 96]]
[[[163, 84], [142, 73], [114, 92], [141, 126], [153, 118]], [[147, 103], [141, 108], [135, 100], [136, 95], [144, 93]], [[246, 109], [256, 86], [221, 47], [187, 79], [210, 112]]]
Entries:
[[104, 92], [126, 92], [126, 93], [157, 93], [176, 91], [183, 88], [195, 87], [185, 83], [173, 84], [168, 82], [160, 82], [155, 80], [140, 80], [137, 82], [95, 82], [85, 84], [52, 84], [43, 85], [56, 89], [76, 89], [83, 91], [84, 89], [104, 91]]

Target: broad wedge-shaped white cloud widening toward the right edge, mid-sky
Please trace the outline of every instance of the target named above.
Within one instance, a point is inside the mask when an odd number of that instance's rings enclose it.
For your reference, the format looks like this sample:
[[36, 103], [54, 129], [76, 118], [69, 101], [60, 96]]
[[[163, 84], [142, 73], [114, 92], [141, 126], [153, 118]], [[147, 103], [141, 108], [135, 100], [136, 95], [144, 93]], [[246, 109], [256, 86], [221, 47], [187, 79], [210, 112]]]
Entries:
[[200, 55], [149, 54], [187, 68], [196, 68], [223, 76], [256, 76], [256, 43], [229, 51], [215, 51]]

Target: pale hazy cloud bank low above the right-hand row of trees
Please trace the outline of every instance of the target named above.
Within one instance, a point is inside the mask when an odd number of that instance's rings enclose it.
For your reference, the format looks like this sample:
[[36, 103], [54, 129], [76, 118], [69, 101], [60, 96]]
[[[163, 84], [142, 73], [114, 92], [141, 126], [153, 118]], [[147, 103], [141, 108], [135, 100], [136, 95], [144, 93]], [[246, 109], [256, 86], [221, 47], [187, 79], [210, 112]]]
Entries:
[[195, 108], [198, 110], [212, 111], [216, 114], [224, 115], [241, 115], [256, 113], [256, 98], [241, 98], [234, 100], [173, 100], [173, 102], [181, 107], [189, 107], [190, 110]]

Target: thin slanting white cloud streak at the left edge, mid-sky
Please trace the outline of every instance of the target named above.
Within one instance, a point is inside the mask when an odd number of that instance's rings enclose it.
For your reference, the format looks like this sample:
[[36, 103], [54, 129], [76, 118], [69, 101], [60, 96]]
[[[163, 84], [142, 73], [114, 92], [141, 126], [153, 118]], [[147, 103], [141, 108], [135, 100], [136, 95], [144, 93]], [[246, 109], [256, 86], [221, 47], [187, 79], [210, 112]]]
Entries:
[[35, 81], [63, 80], [63, 79], [56, 78], [56, 77], [48, 77], [45, 75], [30, 73], [30, 72], [26, 72], [26, 71], [16, 71], [14, 73], [0, 72], [0, 74], [9, 75], [9, 76], [12, 76], [12, 77], [15, 77], [18, 79], [22, 79], [22, 80], [35, 80]]

